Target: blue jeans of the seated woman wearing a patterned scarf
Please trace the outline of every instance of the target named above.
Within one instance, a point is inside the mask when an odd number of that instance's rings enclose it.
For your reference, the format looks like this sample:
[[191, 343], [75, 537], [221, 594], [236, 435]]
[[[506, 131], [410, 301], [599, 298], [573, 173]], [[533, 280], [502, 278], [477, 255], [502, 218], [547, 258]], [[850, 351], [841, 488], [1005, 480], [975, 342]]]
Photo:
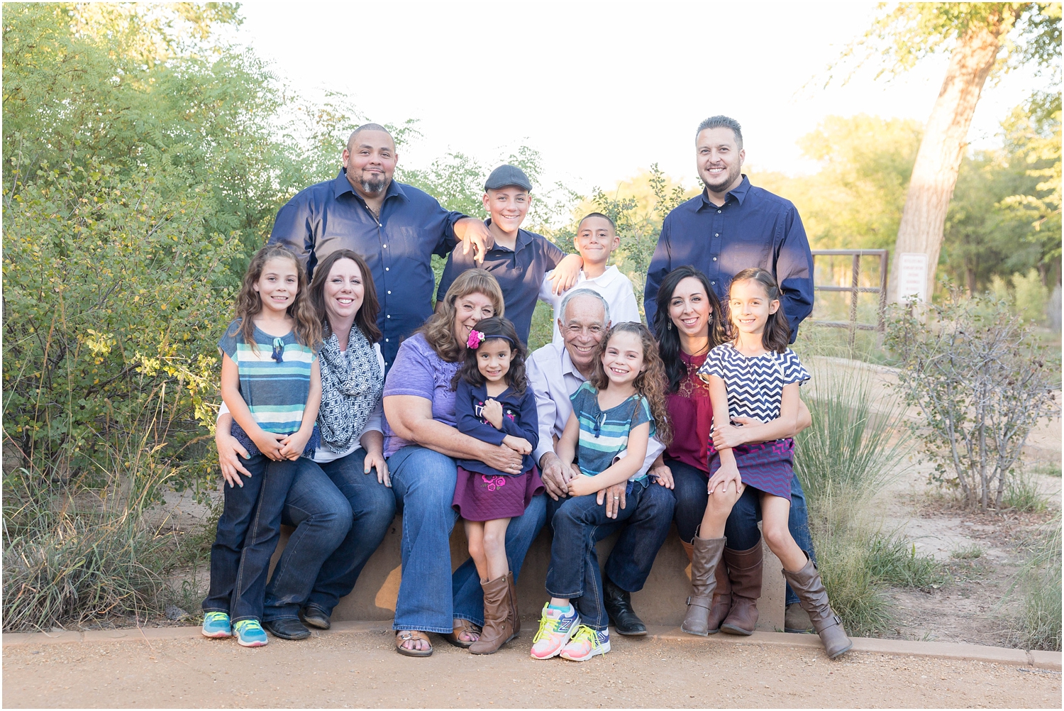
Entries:
[[363, 474], [366, 451], [318, 465], [299, 460], [282, 523], [295, 526], [266, 588], [264, 619], [297, 618], [301, 607], [331, 615], [354, 589], [395, 516], [395, 496]]

